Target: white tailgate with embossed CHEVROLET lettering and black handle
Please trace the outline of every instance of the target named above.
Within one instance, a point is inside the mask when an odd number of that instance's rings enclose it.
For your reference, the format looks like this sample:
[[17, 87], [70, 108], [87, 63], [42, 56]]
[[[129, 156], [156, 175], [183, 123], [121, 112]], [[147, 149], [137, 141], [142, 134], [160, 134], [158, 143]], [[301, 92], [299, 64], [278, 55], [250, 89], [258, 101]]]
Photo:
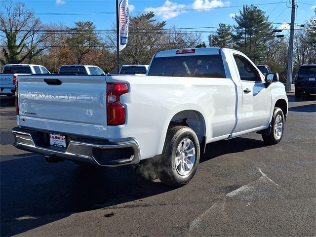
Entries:
[[107, 137], [105, 76], [19, 76], [20, 126]]

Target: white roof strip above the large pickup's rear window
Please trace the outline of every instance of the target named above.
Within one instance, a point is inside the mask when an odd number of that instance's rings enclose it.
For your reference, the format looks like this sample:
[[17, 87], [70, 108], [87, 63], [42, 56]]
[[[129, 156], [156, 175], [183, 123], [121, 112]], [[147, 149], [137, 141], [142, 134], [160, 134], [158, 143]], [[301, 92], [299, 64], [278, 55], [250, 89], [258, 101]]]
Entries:
[[[178, 50], [190, 50], [194, 49], [194, 53], [179, 53], [176, 54]], [[219, 50], [221, 48], [217, 47], [208, 47], [208, 48], [180, 48], [180, 49], [171, 49], [171, 50], [165, 50], [165, 51], [160, 51], [156, 54], [155, 57], [177, 57], [177, 56], [184, 56], [184, 55], [210, 55], [210, 54], [219, 54]]]

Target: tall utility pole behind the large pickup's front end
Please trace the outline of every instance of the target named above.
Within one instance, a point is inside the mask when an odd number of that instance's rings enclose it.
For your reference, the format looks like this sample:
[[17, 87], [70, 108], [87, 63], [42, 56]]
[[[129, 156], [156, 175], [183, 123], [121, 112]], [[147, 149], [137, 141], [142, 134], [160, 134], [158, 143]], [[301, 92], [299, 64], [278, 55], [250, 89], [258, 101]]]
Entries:
[[292, 0], [290, 42], [288, 46], [288, 63], [287, 63], [287, 77], [286, 77], [286, 91], [287, 92], [291, 91], [291, 85], [292, 85], [295, 8], [296, 8], [295, 0]]

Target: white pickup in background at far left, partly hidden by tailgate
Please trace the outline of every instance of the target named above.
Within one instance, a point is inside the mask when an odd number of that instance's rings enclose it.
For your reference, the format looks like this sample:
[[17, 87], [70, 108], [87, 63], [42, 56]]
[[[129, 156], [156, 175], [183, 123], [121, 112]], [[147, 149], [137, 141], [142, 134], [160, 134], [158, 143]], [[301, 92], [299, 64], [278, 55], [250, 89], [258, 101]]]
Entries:
[[34, 64], [6, 64], [0, 74], [0, 95], [14, 95], [14, 80], [23, 74], [49, 74], [41, 65]]

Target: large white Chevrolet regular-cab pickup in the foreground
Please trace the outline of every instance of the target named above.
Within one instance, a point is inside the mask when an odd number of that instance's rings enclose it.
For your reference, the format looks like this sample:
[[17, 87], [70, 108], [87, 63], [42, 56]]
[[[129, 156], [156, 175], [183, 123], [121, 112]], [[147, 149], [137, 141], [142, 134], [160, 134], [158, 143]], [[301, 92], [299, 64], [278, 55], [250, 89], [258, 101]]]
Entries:
[[207, 143], [250, 132], [278, 143], [288, 108], [277, 74], [227, 48], [158, 52], [146, 76], [21, 76], [17, 90], [16, 148], [139, 164], [173, 186], [192, 179]]

